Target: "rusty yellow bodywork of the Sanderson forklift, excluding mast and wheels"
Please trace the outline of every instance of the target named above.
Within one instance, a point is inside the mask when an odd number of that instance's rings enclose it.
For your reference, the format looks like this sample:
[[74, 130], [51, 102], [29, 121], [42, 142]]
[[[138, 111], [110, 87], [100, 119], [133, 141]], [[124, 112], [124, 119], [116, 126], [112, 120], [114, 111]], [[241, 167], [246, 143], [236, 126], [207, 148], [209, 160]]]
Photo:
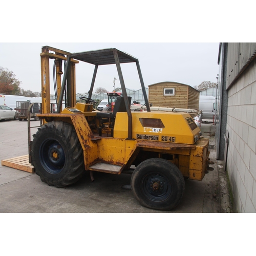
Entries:
[[[193, 180], [202, 180], [207, 172], [208, 139], [199, 139], [194, 142], [194, 137], [200, 132], [196, 127], [190, 129], [188, 121], [189, 114], [182, 113], [156, 113], [156, 112], [134, 112], [133, 115], [133, 139], [127, 138], [127, 114], [117, 113], [114, 137], [98, 136], [92, 131], [90, 122], [98, 123], [96, 111], [90, 111], [90, 104], [77, 103], [74, 108], [67, 108], [61, 114], [40, 114], [40, 118], [47, 120], [63, 120], [72, 123], [75, 127], [78, 139], [83, 150], [84, 165], [86, 170], [95, 163], [109, 163], [120, 166], [120, 171], [129, 168], [140, 152], [156, 152], [158, 157], [172, 155], [169, 160], [177, 165], [185, 177]], [[72, 110], [81, 113], [73, 113]], [[89, 110], [90, 112], [84, 112]], [[164, 127], [161, 131], [152, 132], [151, 127], [143, 127], [139, 118], [161, 119]], [[178, 125], [179, 123], [179, 125]], [[145, 129], [146, 128], [146, 129]], [[109, 133], [110, 134], [110, 133]], [[136, 139], [136, 135], [158, 136], [158, 141]], [[162, 136], [176, 137], [175, 143], [161, 141]], [[189, 142], [189, 143], [188, 143]], [[108, 172], [106, 170], [99, 170]]]

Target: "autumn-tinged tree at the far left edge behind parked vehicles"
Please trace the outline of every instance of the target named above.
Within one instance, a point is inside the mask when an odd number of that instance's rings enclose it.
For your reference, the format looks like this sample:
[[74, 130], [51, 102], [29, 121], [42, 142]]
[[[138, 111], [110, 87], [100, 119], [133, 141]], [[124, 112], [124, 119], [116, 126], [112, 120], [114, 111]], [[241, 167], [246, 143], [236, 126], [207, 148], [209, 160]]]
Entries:
[[20, 95], [20, 83], [12, 71], [0, 67], [0, 93]]

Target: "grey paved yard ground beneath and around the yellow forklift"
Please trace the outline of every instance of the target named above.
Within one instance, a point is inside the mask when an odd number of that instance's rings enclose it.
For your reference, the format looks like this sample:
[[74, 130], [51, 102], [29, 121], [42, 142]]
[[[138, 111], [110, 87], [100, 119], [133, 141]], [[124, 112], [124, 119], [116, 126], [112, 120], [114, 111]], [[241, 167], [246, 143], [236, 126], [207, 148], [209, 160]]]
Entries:
[[[31, 120], [31, 126], [39, 121]], [[36, 132], [32, 129], [32, 134]], [[180, 204], [170, 211], [159, 211], [141, 206], [130, 189], [130, 174], [112, 175], [89, 172], [77, 183], [56, 188], [41, 182], [36, 174], [0, 165], [1, 213], [224, 213], [232, 212], [226, 174], [222, 162], [216, 160], [215, 125], [202, 123], [203, 137], [210, 139], [210, 159], [215, 162], [202, 181], [185, 181], [185, 192]], [[27, 121], [0, 121], [0, 160], [28, 155]], [[125, 186], [124, 186], [125, 187]]]

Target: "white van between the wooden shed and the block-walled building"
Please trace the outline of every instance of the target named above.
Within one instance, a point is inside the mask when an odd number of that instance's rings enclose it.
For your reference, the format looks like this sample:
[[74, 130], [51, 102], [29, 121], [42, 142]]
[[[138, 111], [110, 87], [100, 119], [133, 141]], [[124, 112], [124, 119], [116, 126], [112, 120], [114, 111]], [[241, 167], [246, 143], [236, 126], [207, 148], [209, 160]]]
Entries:
[[203, 119], [214, 119], [216, 98], [214, 96], [200, 95], [199, 109], [203, 112]]

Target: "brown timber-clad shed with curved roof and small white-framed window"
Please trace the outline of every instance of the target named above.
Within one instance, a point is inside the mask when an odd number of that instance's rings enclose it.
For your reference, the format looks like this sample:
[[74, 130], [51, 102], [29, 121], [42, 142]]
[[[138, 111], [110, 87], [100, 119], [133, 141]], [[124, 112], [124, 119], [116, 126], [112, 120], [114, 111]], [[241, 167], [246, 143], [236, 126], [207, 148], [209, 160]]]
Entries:
[[179, 82], [159, 82], [148, 86], [148, 101], [153, 106], [199, 109], [200, 92]]

